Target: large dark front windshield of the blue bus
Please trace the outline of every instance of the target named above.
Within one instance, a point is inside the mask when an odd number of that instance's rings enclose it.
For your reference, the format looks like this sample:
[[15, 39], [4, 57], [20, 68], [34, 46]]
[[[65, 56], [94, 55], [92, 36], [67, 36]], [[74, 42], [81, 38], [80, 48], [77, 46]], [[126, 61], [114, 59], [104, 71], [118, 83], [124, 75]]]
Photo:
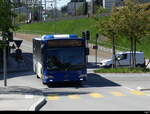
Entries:
[[47, 70], [81, 70], [85, 68], [84, 48], [53, 48], [47, 51]]

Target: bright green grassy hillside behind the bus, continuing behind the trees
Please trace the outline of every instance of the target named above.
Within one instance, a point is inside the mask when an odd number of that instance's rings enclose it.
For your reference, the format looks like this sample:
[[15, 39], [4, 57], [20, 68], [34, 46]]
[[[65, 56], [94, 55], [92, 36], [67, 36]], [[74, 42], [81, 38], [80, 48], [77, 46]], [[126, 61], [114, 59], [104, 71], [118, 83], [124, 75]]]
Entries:
[[[101, 17], [102, 19], [108, 17]], [[56, 28], [56, 29], [55, 29]], [[60, 20], [60, 21], [52, 21], [52, 22], [39, 22], [32, 24], [24, 24], [20, 26], [20, 29], [17, 32], [30, 33], [30, 34], [77, 34], [81, 37], [82, 32], [85, 30], [91, 31], [91, 40], [90, 43], [94, 43], [95, 35], [98, 33], [98, 30], [95, 28], [95, 20], [92, 18], [80, 18], [80, 19], [70, 19], [70, 20]], [[112, 44], [110, 41], [100, 40], [100, 45], [111, 48]], [[117, 45], [123, 48], [130, 49], [130, 41], [125, 38], [120, 38], [117, 40]], [[144, 39], [140, 44], [137, 44], [137, 50], [143, 51], [145, 53], [146, 58], [150, 58], [150, 40]], [[117, 47], [118, 50], [126, 51], [126, 49], [122, 49]]]

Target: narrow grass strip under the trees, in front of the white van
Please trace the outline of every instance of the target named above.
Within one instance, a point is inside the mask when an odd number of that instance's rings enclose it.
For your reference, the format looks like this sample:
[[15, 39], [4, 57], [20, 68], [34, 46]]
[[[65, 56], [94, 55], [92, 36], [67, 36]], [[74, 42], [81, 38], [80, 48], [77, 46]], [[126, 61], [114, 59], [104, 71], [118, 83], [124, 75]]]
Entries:
[[144, 68], [102, 68], [94, 71], [95, 73], [150, 73], [150, 69]]

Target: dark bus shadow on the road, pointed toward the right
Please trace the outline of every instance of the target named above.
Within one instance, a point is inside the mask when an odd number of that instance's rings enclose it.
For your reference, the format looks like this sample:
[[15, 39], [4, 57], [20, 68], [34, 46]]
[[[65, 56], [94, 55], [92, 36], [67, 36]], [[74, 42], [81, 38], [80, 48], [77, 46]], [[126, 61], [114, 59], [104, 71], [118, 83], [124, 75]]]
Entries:
[[121, 86], [111, 80], [108, 80], [101, 75], [89, 73], [87, 74], [87, 80], [79, 83], [64, 82], [64, 83], [51, 83], [48, 84], [49, 88], [92, 88], [92, 87], [115, 87]]

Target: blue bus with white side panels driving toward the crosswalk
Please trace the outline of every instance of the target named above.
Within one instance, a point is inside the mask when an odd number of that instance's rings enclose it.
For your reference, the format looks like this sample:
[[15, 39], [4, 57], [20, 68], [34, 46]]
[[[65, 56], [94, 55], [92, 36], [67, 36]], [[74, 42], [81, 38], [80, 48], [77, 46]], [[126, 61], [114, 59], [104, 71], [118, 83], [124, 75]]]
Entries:
[[85, 38], [44, 35], [33, 39], [33, 70], [43, 84], [85, 81], [88, 54]]

